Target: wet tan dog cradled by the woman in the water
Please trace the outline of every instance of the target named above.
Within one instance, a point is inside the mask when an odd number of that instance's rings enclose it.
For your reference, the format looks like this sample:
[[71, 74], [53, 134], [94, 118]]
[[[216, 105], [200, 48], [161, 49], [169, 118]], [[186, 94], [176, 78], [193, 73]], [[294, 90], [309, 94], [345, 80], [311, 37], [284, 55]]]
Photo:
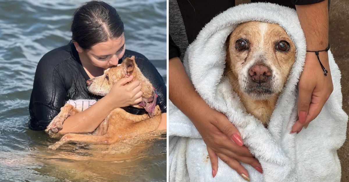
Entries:
[[[134, 107], [145, 108], [147, 114], [135, 115], [126, 112], [122, 108], [114, 109], [94, 131], [94, 135], [84, 134], [66, 134], [60, 141], [50, 146], [51, 149], [57, 149], [60, 145], [67, 142], [86, 142], [86, 143], [105, 143], [111, 144], [127, 137], [145, 134], [155, 131], [161, 121], [160, 107], [156, 105], [156, 93], [153, 85], [144, 77], [137, 67], [134, 56], [126, 58], [121, 65], [106, 69], [104, 74], [87, 81], [88, 90], [96, 95], [105, 96], [112, 88], [114, 82], [121, 78], [134, 76], [141, 84], [142, 102]], [[132, 82], [132, 81], [131, 81]], [[129, 82], [129, 83], [131, 83]], [[61, 108], [60, 113], [54, 117], [45, 130], [51, 137], [56, 137], [58, 129], [68, 116], [78, 113], [76, 108], [66, 104]], [[55, 126], [55, 129], [51, 129]], [[54, 132], [52, 132], [52, 130]]]

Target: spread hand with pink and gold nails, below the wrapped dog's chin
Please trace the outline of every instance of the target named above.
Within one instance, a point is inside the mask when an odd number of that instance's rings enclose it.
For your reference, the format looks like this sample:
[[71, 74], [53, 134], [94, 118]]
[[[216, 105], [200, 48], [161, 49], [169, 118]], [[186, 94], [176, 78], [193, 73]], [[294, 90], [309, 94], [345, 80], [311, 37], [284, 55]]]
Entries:
[[218, 172], [218, 158], [236, 170], [240, 175], [248, 175], [239, 161], [250, 164], [260, 173], [262, 167], [246, 146], [243, 146], [240, 133], [224, 114], [210, 108], [206, 103], [201, 105], [191, 118], [207, 146], [212, 166], [212, 176]]

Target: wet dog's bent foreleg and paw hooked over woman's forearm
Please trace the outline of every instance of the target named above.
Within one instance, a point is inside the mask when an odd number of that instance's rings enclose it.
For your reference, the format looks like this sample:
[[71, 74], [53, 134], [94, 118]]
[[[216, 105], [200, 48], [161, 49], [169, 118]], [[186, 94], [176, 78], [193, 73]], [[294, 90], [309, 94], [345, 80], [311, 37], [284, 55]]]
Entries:
[[76, 113], [79, 113], [80, 111], [77, 110], [74, 106], [70, 104], [65, 104], [63, 107], [61, 107], [61, 111], [58, 113], [57, 116], [53, 118], [49, 126], [47, 126], [45, 132], [49, 134], [51, 137], [55, 136], [56, 133], [62, 129], [63, 122], [67, 119], [68, 116], [74, 115]]

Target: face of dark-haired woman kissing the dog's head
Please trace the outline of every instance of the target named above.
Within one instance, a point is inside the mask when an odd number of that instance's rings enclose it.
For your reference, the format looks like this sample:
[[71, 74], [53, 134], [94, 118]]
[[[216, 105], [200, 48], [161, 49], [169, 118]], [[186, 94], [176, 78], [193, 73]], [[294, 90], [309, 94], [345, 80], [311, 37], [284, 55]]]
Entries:
[[122, 35], [119, 38], [108, 39], [105, 42], [92, 46], [90, 49], [82, 50], [80, 48], [79, 50], [79, 48], [77, 48], [77, 51], [84, 55], [86, 59], [84, 61], [88, 61], [96, 67], [108, 69], [118, 65], [119, 59], [124, 55], [125, 36]]

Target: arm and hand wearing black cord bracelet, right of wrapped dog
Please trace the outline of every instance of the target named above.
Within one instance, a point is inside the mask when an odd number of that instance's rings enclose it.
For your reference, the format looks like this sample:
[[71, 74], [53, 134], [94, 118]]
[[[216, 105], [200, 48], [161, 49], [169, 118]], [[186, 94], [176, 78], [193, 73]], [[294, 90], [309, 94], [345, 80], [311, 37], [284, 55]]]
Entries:
[[[325, 50], [328, 46], [328, 2], [327, 0], [312, 5], [296, 6], [300, 25], [304, 31], [307, 50]], [[321, 112], [333, 91], [328, 53], [319, 52], [319, 58], [327, 69], [324, 75], [317, 56], [307, 52], [302, 75], [298, 83], [298, 120], [292, 127], [293, 132], [300, 132], [303, 127], [314, 120]]]

